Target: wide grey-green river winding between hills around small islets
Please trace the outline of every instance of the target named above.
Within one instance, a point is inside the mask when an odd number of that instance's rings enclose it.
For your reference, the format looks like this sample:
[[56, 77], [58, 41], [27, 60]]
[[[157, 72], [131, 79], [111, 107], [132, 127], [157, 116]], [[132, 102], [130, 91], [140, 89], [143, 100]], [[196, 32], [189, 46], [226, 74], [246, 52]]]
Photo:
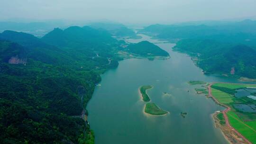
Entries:
[[[141, 39], [128, 42], [148, 40], [167, 51], [171, 58], [126, 59], [119, 62], [118, 68], [101, 75], [101, 87], [95, 88], [87, 106], [95, 144], [227, 144], [211, 117], [224, 108], [212, 99], [195, 94], [194, 88], [200, 86], [191, 86], [187, 81], [239, 81], [204, 75], [191, 57], [172, 51], [175, 44], [140, 36]], [[145, 102], [138, 92], [142, 85], [154, 86], [147, 91], [152, 102], [170, 114], [154, 117], [143, 113]], [[188, 114], [181, 117], [181, 112]]]

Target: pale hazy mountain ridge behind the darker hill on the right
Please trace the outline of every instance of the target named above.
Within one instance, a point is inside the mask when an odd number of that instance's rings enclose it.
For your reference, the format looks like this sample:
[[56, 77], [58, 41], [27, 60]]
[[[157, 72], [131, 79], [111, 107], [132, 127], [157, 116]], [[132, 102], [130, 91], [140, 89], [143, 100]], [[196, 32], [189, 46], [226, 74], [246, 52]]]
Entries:
[[151, 25], [140, 30], [163, 39], [212, 39], [256, 46], [256, 21], [244, 20], [223, 25]]

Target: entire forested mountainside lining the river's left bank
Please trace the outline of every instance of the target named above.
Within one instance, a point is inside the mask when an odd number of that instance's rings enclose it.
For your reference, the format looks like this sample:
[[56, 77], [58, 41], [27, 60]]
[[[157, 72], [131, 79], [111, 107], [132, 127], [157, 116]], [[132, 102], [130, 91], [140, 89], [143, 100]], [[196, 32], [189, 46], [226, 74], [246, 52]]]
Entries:
[[100, 74], [118, 65], [119, 42], [88, 27], [54, 31], [64, 39], [0, 34], [0, 144], [93, 143], [80, 116]]

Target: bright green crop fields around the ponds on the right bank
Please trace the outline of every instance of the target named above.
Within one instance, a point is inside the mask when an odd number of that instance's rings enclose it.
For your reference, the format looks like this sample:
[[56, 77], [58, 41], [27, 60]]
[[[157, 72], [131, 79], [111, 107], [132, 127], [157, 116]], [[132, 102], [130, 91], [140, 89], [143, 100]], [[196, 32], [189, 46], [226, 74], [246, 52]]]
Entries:
[[[239, 89], [239, 88], [245, 88], [245, 87], [256, 87], [256, 85], [247, 85], [247, 84], [231, 84], [231, 83], [215, 83], [214, 86], [218, 87], [224, 87], [229, 88], [232, 90]], [[238, 117], [238, 111], [234, 108], [232, 108], [232, 103], [235, 103], [238, 101], [234, 96], [211, 88], [212, 95], [219, 100], [220, 103], [228, 105], [232, 110], [227, 113], [230, 125], [233, 126], [238, 132], [240, 132], [242, 135], [244, 135], [250, 142], [253, 144], [256, 144], [256, 121], [243, 121], [241, 118], [244, 117], [244, 113], [239, 113]], [[239, 103], [243, 102], [242, 100], [238, 101]], [[252, 117], [253, 119], [254, 115], [252, 113], [246, 113], [246, 115], [249, 115], [248, 117]]]

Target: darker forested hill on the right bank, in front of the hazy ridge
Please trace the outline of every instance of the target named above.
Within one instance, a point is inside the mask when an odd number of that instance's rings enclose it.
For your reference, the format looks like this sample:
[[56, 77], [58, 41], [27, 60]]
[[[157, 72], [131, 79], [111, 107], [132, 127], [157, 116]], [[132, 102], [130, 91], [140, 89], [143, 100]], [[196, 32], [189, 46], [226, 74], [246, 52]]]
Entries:
[[256, 50], [214, 40], [183, 39], [174, 49], [197, 56], [204, 72], [256, 78]]

